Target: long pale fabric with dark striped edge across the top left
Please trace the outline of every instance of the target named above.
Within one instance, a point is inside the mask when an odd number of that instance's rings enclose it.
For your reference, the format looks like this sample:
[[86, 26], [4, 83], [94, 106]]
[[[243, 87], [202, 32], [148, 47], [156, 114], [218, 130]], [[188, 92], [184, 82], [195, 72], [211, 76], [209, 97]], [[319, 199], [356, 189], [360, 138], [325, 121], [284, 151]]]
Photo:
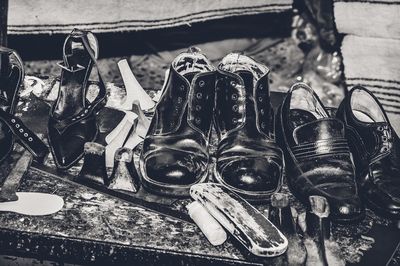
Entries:
[[160, 29], [292, 8], [293, 0], [14, 0], [9, 34]]

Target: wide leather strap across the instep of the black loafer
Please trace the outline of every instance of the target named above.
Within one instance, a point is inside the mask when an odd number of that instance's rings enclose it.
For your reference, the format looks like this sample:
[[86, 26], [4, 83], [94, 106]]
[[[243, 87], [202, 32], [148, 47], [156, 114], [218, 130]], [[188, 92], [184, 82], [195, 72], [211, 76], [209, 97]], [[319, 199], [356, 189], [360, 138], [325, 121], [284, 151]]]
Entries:
[[343, 137], [344, 125], [340, 120], [334, 118], [315, 120], [299, 126], [293, 131], [293, 138], [297, 144]]

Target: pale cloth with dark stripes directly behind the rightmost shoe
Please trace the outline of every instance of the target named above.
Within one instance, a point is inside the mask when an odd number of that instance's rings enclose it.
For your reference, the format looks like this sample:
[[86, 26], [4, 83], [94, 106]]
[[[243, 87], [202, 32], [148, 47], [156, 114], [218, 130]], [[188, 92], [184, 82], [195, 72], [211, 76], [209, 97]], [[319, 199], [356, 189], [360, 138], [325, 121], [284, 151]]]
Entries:
[[341, 50], [348, 88], [372, 91], [400, 134], [400, 40], [347, 35]]

